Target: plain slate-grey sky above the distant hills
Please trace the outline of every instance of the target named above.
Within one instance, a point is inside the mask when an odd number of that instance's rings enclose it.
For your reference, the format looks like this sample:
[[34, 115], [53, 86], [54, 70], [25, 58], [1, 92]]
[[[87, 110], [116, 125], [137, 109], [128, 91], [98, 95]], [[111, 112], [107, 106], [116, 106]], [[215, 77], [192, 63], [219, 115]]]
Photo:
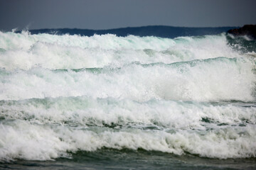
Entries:
[[256, 24], [256, 0], [0, 0], [0, 30]]

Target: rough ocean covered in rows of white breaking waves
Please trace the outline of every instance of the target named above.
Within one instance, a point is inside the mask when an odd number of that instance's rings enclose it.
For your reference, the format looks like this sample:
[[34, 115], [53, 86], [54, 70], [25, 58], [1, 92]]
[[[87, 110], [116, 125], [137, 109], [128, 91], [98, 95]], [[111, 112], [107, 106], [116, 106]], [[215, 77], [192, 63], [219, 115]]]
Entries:
[[255, 40], [61, 31], [0, 32], [0, 169], [256, 169]]

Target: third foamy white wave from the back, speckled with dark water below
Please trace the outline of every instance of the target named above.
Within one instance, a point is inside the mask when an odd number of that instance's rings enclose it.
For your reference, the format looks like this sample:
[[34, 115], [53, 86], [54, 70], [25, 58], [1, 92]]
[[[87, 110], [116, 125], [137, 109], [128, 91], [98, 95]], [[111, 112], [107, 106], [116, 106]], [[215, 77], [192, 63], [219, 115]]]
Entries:
[[[66, 125], [116, 125], [135, 128], [178, 128], [207, 130], [217, 124], [246, 125], [256, 123], [256, 108], [232, 104], [213, 106], [205, 103], [148, 101], [138, 103], [113, 98], [94, 99], [46, 98], [28, 101], [6, 101], [0, 104], [1, 116], [7, 120]], [[211, 123], [205, 123], [208, 118]], [[247, 123], [245, 123], [247, 120]]]

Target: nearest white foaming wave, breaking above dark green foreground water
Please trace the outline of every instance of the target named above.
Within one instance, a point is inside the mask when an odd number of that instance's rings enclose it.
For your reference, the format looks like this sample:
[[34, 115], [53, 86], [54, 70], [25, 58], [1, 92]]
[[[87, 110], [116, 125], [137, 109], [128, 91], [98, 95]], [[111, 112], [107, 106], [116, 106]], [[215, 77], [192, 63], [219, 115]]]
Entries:
[[255, 157], [255, 126], [225, 128], [207, 132], [75, 130], [65, 126], [31, 125], [16, 120], [0, 126], [0, 160], [49, 160], [66, 152], [113, 149], [146, 149], [173, 154], [199, 154], [212, 158]]

